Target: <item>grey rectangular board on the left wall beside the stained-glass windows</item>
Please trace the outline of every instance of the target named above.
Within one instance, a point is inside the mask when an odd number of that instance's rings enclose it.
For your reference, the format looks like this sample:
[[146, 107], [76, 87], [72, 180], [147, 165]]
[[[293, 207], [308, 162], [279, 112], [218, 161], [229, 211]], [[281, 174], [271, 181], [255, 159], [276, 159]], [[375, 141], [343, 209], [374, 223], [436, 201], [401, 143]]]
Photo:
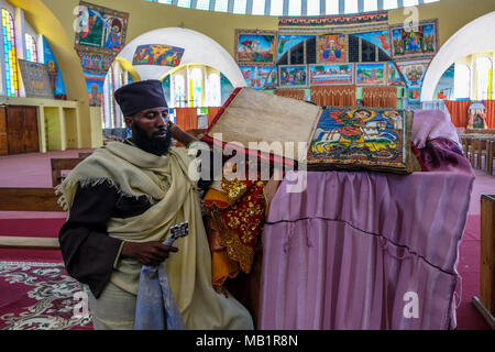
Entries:
[[54, 98], [45, 64], [18, 59], [25, 96], [32, 98]]

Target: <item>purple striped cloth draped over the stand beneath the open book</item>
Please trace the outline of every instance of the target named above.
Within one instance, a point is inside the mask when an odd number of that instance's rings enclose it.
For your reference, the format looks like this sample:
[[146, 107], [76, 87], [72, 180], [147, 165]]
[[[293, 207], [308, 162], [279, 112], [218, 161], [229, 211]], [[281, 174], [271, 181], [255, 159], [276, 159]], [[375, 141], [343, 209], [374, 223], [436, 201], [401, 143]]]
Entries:
[[314, 172], [304, 193], [280, 184], [263, 233], [260, 329], [457, 327], [474, 173], [457, 143], [424, 140], [430, 172]]

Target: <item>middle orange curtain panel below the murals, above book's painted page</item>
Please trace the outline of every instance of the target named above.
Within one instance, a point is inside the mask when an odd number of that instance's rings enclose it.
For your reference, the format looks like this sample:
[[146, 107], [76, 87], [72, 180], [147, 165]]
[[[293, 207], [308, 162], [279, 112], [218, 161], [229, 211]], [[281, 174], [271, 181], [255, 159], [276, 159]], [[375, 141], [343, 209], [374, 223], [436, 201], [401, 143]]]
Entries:
[[311, 100], [320, 107], [355, 107], [355, 86], [314, 86]]

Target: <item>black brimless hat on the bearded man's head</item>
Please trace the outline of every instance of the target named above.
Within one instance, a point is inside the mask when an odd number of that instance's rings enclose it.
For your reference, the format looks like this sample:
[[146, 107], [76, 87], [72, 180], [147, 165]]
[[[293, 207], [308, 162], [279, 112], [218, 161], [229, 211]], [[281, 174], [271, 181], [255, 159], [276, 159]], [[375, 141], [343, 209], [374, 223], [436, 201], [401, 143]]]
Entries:
[[157, 79], [141, 80], [120, 87], [114, 97], [124, 117], [153, 108], [167, 108], [162, 81]]

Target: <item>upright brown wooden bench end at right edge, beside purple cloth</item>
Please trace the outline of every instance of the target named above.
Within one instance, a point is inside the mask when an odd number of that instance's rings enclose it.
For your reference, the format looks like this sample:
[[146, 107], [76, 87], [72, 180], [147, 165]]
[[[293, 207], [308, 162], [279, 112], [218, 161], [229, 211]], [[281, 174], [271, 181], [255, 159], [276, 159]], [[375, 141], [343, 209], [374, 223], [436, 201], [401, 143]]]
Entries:
[[481, 196], [480, 298], [473, 305], [495, 329], [495, 195]]

